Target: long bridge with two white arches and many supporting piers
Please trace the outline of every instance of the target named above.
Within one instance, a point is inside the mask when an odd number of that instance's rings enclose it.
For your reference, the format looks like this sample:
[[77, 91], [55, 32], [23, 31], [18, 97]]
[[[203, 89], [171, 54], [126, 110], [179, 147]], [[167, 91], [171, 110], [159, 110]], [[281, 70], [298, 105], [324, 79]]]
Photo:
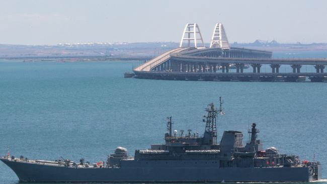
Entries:
[[[270, 72], [261, 67], [269, 65]], [[289, 65], [291, 72], [280, 72]], [[315, 72], [301, 72], [303, 65]], [[327, 81], [325, 58], [272, 58], [272, 52], [230, 47], [221, 23], [214, 27], [210, 46], [205, 47], [199, 26], [185, 26], [180, 47], [167, 51], [133, 69], [136, 78], [217, 81]], [[244, 69], [252, 67], [251, 72]], [[231, 72], [231, 68], [235, 69]]]

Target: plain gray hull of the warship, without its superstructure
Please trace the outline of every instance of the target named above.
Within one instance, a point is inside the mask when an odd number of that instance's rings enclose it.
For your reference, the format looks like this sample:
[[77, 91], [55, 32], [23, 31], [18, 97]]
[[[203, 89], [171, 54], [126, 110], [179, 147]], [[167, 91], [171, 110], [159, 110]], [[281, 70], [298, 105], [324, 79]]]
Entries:
[[[1, 159], [20, 181], [71, 182], [305, 182], [310, 167], [223, 167], [210, 160], [126, 161], [120, 168], [72, 168]], [[196, 165], [196, 166], [195, 166]], [[321, 172], [320, 172], [321, 173]]]

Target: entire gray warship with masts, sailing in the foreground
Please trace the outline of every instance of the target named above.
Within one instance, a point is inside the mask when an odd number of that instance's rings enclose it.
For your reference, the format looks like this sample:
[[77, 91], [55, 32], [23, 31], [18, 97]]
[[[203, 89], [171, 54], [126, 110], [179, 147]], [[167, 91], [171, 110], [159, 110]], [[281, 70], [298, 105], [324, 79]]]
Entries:
[[16, 158], [9, 152], [0, 159], [20, 181], [27, 182], [307, 182], [321, 178], [318, 161], [300, 161], [275, 147], [263, 149], [255, 123], [246, 144], [239, 131], [224, 131], [217, 142], [216, 119], [225, 114], [221, 98], [219, 102], [219, 108], [209, 104], [205, 109], [203, 135], [173, 131], [169, 117], [165, 144], [135, 150], [134, 157], [128, 156], [126, 148], [117, 147], [106, 162], [93, 164], [84, 159]]

